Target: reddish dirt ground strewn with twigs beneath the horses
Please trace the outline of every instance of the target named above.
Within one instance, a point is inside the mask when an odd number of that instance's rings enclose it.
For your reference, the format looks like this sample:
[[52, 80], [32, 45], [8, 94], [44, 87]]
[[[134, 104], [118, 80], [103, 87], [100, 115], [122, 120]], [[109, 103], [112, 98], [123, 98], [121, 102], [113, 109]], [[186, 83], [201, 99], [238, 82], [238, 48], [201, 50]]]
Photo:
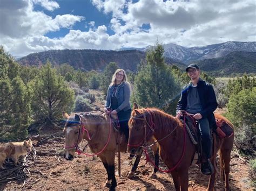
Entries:
[[[98, 104], [98, 103], [97, 103]], [[55, 133], [55, 135], [53, 135]], [[26, 172], [28, 178], [26, 181], [9, 181], [0, 185], [3, 189], [101, 189], [108, 190], [104, 187], [106, 181], [106, 171], [98, 157], [86, 157], [85, 155], [76, 156], [72, 161], [65, 160], [58, 155], [64, 145], [62, 130], [47, 132], [46, 135], [53, 135], [45, 138], [43, 143], [33, 140], [33, 145], [37, 150], [37, 160], [29, 157], [32, 163]], [[42, 139], [41, 139], [42, 140]], [[83, 143], [85, 145], [85, 143]], [[86, 148], [86, 153], [91, 153]], [[149, 175], [153, 170], [150, 164], [145, 164], [145, 155], [138, 166], [138, 172], [134, 178], [128, 179], [132, 162], [129, 160], [129, 153], [122, 153], [122, 178], [116, 174], [118, 186], [117, 190], [174, 190], [173, 181], [170, 174], [157, 173], [157, 179], [150, 179]], [[117, 169], [116, 155], [116, 172]], [[163, 162], [160, 162], [161, 168], [166, 168]], [[14, 166], [8, 166], [9, 169]], [[0, 177], [5, 171], [0, 170]], [[189, 190], [205, 190], [209, 176], [198, 172], [198, 166], [192, 166], [189, 171]], [[239, 158], [237, 151], [232, 151], [230, 184], [232, 190], [253, 190], [250, 187], [248, 178], [248, 166]], [[219, 173], [215, 182], [215, 190], [224, 190], [224, 182], [220, 180]]]

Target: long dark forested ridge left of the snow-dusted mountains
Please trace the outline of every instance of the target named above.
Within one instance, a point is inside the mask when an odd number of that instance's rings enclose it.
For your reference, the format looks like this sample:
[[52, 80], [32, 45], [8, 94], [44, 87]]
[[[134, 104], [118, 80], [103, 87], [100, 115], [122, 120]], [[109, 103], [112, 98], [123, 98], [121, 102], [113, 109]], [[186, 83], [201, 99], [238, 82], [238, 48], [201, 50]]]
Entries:
[[145, 52], [130, 51], [99, 51], [95, 49], [64, 49], [29, 54], [19, 60], [22, 65], [43, 65], [48, 60], [53, 65], [69, 63], [75, 69], [90, 71], [103, 70], [109, 62], [116, 62], [118, 67], [135, 71]]

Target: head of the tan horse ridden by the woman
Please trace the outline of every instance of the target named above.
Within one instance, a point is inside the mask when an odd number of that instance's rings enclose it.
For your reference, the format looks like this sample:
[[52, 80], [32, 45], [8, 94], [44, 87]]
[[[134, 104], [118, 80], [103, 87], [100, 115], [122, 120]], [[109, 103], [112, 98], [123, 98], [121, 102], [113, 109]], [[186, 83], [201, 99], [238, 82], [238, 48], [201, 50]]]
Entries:
[[69, 116], [64, 111], [62, 112], [62, 116], [66, 119], [63, 129], [65, 135], [64, 158], [67, 160], [72, 160], [78, 144], [83, 140], [81, 119], [78, 114]]

